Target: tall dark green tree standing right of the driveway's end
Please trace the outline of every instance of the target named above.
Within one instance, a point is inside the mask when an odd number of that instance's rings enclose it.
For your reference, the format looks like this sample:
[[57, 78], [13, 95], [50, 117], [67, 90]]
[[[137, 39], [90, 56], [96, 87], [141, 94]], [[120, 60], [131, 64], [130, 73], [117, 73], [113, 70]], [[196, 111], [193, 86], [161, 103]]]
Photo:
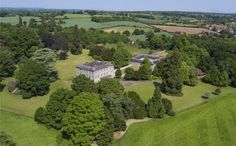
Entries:
[[181, 72], [181, 54], [175, 50], [164, 60], [162, 72], [162, 90], [170, 95], [182, 95], [183, 75]]

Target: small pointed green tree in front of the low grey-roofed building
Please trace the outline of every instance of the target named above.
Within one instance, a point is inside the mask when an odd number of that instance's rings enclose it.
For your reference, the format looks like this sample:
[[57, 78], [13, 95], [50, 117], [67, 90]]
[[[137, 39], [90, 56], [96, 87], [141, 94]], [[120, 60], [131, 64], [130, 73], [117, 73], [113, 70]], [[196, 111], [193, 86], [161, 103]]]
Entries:
[[145, 58], [138, 70], [139, 78], [141, 80], [149, 80], [151, 79], [152, 75], [152, 68], [151, 68], [151, 62], [148, 58]]

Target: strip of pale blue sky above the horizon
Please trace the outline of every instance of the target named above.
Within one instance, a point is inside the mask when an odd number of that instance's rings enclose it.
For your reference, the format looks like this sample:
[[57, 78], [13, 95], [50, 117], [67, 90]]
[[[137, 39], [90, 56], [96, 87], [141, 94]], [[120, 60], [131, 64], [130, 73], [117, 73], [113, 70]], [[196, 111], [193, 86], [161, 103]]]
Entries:
[[236, 0], [0, 0], [1, 7], [236, 13]]

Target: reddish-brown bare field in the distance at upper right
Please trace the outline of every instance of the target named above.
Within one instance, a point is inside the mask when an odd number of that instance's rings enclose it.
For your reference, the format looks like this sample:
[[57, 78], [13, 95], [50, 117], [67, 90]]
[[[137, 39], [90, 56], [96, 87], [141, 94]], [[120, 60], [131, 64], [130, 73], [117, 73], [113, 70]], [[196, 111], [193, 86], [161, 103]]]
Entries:
[[214, 33], [213, 31], [210, 31], [205, 28], [190, 28], [190, 27], [179, 27], [179, 26], [168, 26], [168, 25], [153, 25], [153, 26], [172, 33], [186, 33], [186, 34], [199, 34], [202, 32]]

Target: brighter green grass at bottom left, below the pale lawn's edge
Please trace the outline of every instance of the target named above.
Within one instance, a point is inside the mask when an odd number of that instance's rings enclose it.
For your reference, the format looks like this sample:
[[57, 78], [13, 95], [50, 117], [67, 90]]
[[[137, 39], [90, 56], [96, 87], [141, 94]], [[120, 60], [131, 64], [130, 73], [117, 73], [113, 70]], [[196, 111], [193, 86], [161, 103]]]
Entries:
[[0, 131], [12, 136], [17, 146], [55, 146], [58, 132], [32, 118], [0, 110]]

